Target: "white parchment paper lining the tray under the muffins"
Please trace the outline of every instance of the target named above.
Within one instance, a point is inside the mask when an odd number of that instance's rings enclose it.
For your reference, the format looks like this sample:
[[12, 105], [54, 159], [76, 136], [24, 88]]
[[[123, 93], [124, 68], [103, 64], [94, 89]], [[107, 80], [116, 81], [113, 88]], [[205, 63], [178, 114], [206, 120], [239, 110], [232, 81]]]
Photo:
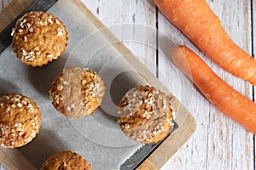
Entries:
[[[90, 162], [92, 169], [118, 169], [142, 144], [131, 141], [119, 130], [116, 104], [127, 90], [146, 84], [145, 77], [125, 63], [100, 33], [93, 33], [96, 28], [72, 2], [60, 0], [48, 12], [67, 26], [68, 45], [61, 58], [32, 68], [15, 57], [12, 46], [0, 56], [0, 94], [24, 94], [40, 106], [42, 113], [37, 137], [17, 150], [37, 169], [47, 157], [61, 150], [75, 150]], [[70, 65], [98, 71], [106, 83], [102, 107], [92, 116], [67, 118], [55, 111], [49, 101], [51, 82]]]

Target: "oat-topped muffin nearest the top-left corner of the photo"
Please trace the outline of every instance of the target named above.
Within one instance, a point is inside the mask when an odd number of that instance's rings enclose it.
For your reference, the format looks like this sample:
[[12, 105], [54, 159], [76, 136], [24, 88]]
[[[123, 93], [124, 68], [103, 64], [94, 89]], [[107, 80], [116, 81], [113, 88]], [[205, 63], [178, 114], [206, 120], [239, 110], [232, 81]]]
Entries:
[[61, 20], [41, 11], [23, 15], [11, 35], [14, 52], [26, 65], [47, 65], [67, 46], [67, 30]]

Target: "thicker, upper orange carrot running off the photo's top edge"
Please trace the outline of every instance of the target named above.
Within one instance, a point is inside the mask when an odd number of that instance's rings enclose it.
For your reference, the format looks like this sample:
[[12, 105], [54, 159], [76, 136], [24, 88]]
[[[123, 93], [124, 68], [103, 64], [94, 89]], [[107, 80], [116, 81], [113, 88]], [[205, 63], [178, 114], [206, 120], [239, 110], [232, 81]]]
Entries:
[[154, 2], [166, 18], [212, 61], [234, 76], [256, 85], [256, 60], [231, 40], [205, 0]]

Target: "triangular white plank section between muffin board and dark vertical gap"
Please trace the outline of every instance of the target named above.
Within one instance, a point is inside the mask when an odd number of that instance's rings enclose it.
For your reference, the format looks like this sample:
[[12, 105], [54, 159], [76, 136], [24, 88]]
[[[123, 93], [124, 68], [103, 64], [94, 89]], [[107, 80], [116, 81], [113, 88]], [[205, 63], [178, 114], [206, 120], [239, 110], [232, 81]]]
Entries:
[[[120, 30], [122, 30], [122, 25], [129, 25], [129, 28], [123, 28], [124, 34], [116, 34], [116, 36], [124, 40], [125, 46], [129, 48], [133, 54], [136, 54], [143, 64], [148, 66], [150, 71], [156, 72], [156, 54], [154, 51], [156, 35], [155, 33], [152, 34], [152, 31], [148, 29], [148, 26], [154, 27], [156, 22], [155, 8], [154, 5], [152, 5], [154, 4], [153, 0], [109, 0], [97, 2], [83, 0], [82, 2], [90, 8], [93, 14], [95, 14], [105, 26], [114, 27], [113, 29], [117, 29], [119, 26]], [[125, 30], [130, 28], [133, 29], [131, 34]], [[145, 40], [143, 37], [138, 37], [140, 31], [143, 32], [143, 35], [146, 35]], [[143, 39], [143, 43], [132, 41], [135, 39]], [[149, 45], [153, 47], [150, 48]]]

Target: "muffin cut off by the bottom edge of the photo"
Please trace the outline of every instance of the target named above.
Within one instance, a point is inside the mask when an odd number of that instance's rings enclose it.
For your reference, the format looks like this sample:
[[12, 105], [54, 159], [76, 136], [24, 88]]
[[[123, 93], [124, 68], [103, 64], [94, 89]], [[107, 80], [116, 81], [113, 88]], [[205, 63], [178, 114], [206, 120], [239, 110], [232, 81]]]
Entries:
[[44, 161], [41, 170], [90, 170], [90, 164], [74, 151], [57, 152]]

